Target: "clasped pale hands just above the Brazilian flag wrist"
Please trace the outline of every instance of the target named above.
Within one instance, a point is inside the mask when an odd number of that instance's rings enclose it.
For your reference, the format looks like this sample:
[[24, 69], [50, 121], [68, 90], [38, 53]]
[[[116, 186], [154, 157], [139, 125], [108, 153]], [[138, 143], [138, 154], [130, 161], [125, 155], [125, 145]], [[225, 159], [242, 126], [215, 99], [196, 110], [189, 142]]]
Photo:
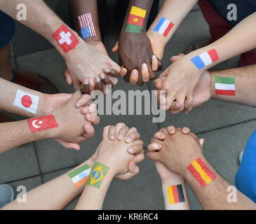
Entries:
[[[109, 139], [109, 131], [116, 127], [114, 139]], [[121, 140], [120, 136], [123, 135]], [[119, 139], [118, 139], [119, 136]], [[129, 138], [134, 136], [134, 141]], [[129, 140], [128, 140], [129, 139]], [[130, 179], [139, 172], [135, 163], [144, 159], [143, 141], [139, 140], [140, 134], [132, 127], [128, 128], [123, 123], [118, 123], [116, 126], [107, 126], [103, 131], [103, 139], [98, 146], [94, 158], [96, 162], [102, 162], [111, 168], [112, 174], [119, 179]], [[130, 143], [126, 143], [130, 141]], [[130, 151], [133, 149], [133, 151]], [[131, 171], [130, 171], [131, 169]]]

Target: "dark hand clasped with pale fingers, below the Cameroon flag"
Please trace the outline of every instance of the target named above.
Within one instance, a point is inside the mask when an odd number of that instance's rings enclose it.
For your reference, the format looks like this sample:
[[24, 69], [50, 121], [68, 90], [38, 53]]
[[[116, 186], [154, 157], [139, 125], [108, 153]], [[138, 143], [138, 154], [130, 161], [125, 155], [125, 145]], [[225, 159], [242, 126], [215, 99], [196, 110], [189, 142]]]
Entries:
[[154, 71], [161, 70], [161, 62], [153, 54], [145, 32], [121, 34], [119, 43], [112, 51], [119, 52], [119, 64], [128, 69], [127, 74], [122, 72], [121, 75], [126, 75], [125, 80], [132, 84], [144, 85], [156, 77]]

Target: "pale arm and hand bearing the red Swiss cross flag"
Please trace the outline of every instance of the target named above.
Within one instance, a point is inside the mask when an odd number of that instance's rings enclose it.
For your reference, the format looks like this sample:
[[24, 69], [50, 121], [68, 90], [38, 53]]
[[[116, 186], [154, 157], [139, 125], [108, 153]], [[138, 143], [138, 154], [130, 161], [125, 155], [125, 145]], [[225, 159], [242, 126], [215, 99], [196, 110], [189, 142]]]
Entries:
[[25, 3], [27, 6], [27, 20], [22, 20], [22, 24], [44, 36], [60, 52], [67, 65], [64, 75], [67, 76], [68, 73], [71, 76], [69, 84], [73, 83], [76, 90], [81, 89], [85, 78], [89, 79], [91, 90], [94, 90], [95, 82], [101, 82], [100, 73], [118, 75], [120, 67], [112, 59], [86, 44], [43, 1], [3, 0], [0, 8], [15, 19], [18, 3]]

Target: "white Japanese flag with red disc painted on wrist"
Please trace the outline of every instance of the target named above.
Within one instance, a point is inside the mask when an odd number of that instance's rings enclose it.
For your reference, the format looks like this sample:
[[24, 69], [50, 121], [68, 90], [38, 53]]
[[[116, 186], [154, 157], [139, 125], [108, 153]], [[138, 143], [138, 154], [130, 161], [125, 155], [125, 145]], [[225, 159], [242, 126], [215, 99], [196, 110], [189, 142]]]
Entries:
[[13, 102], [14, 106], [18, 106], [25, 111], [36, 114], [38, 104], [39, 104], [38, 96], [34, 94], [30, 94], [28, 92], [24, 92], [22, 90], [17, 90], [16, 96]]

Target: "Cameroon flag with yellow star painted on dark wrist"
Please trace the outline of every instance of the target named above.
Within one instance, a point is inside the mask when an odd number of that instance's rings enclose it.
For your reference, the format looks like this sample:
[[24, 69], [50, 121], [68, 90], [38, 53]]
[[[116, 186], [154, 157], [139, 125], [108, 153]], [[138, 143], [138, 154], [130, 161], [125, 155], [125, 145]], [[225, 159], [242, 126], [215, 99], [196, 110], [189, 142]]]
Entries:
[[127, 22], [126, 32], [140, 34], [144, 24], [144, 18], [147, 10], [132, 6], [130, 9], [130, 15]]

